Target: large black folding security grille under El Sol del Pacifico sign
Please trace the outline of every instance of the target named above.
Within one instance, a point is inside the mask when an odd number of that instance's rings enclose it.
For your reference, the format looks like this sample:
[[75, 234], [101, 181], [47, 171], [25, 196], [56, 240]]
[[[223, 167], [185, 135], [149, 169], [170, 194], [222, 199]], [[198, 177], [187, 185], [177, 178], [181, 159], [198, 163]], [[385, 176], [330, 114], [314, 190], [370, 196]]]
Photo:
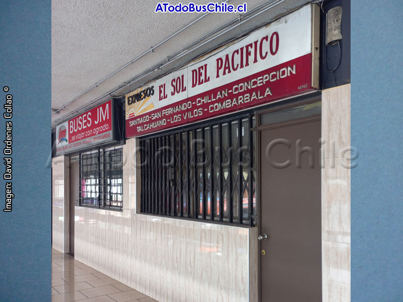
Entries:
[[141, 147], [141, 211], [254, 225], [253, 115], [149, 137]]

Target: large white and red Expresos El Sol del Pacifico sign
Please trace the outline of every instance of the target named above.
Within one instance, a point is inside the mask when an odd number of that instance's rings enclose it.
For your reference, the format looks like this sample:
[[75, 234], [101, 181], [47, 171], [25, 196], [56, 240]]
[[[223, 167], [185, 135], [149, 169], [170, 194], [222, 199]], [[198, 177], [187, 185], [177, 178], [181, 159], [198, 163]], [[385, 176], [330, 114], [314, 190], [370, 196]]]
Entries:
[[312, 19], [307, 5], [126, 94], [126, 136], [315, 90]]

